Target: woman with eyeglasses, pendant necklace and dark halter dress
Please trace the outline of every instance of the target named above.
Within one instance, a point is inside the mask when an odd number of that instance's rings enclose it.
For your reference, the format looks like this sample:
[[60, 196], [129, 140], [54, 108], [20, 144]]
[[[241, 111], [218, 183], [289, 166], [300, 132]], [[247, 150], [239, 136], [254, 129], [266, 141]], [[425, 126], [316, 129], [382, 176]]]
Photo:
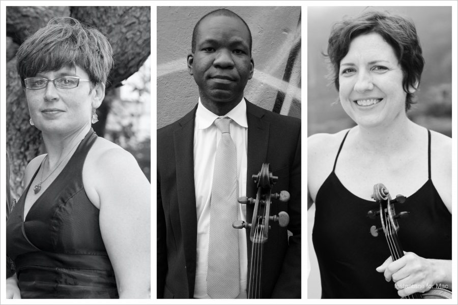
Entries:
[[97, 29], [54, 18], [17, 52], [30, 123], [47, 154], [28, 163], [7, 221], [7, 298], [149, 298], [150, 184], [91, 124], [112, 50]]

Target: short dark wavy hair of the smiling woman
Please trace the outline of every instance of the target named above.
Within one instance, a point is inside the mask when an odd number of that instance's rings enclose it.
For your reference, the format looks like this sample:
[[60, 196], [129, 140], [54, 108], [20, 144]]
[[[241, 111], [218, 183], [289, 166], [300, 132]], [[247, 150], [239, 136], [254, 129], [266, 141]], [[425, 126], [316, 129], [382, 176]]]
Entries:
[[407, 93], [406, 111], [414, 103], [409, 87], [420, 83], [424, 59], [415, 24], [408, 17], [390, 12], [371, 11], [334, 23], [328, 40], [331, 64], [330, 77], [339, 89], [339, 66], [350, 48], [352, 40], [363, 34], [377, 33], [393, 48], [403, 70], [403, 88]]

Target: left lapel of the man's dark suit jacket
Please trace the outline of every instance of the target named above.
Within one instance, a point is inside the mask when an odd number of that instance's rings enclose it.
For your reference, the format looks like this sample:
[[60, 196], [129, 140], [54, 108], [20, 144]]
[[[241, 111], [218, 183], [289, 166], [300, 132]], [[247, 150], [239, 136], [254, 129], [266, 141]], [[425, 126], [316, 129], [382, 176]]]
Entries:
[[[190, 293], [194, 290], [197, 245], [197, 219], [194, 188], [194, 118], [193, 111], [178, 121], [181, 126], [174, 132], [179, 223], [183, 238]], [[178, 217], [171, 215], [170, 217]]]

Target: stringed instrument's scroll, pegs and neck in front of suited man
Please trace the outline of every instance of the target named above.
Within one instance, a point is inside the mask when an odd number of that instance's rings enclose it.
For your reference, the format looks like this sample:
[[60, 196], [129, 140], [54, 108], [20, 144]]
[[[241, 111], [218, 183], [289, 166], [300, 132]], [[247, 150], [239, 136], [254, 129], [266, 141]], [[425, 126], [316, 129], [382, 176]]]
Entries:
[[253, 217], [251, 223], [235, 221], [232, 226], [236, 229], [249, 229], [251, 240], [251, 260], [247, 284], [247, 298], [262, 298], [262, 260], [264, 244], [269, 238], [270, 223], [278, 223], [280, 227], [286, 227], [290, 222], [290, 216], [285, 211], [280, 211], [278, 215], [270, 216], [270, 205], [272, 199], [281, 202], [290, 200], [290, 193], [281, 191], [280, 194], [272, 194], [272, 187], [278, 181], [277, 176], [273, 176], [269, 171], [269, 164], [263, 163], [261, 171], [252, 175], [252, 179], [257, 184], [256, 198], [239, 197], [238, 201], [242, 204], [254, 204]]

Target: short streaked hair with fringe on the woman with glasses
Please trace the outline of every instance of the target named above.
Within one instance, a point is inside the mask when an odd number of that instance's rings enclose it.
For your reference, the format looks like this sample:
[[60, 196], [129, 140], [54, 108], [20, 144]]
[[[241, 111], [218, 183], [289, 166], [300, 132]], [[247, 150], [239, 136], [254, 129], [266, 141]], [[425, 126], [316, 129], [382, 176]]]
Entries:
[[55, 17], [21, 44], [17, 72], [24, 79], [63, 67], [81, 67], [92, 85], [106, 83], [113, 67], [113, 51], [106, 37], [71, 17]]

